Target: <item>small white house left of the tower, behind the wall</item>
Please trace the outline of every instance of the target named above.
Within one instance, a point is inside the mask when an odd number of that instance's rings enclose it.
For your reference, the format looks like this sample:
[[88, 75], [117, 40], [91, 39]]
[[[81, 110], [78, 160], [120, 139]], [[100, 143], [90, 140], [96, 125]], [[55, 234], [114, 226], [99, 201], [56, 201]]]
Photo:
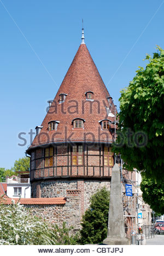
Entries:
[[30, 198], [30, 178], [24, 179], [14, 175], [7, 178], [7, 196], [12, 198]]

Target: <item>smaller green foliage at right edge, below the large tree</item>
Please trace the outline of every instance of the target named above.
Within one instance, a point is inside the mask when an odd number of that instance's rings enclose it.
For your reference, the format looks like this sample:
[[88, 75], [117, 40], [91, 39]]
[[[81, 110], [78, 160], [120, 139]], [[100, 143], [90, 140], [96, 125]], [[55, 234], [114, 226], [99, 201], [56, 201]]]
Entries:
[[142, 178], [140, 183], [143, 200], [150, 205], [156, 215], [164, 214], [164, 183], [155, 179]]

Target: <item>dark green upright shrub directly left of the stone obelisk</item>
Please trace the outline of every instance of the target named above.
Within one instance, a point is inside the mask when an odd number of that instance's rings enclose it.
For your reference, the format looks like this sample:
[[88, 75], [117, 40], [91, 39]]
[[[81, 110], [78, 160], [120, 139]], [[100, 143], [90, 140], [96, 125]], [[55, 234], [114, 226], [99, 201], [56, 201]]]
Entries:
[[90, 199], [90, 207], [82, 219], [80, 243], [101, 243], [107, 237], [109, 191], [104, 187]]

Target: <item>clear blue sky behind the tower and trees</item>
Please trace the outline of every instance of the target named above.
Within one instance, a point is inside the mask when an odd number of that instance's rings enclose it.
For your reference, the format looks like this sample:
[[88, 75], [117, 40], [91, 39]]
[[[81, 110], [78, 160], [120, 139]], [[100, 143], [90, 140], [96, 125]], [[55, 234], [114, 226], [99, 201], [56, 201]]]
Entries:
[[[0, 167], [25, 156], [81, 42], [114, 103], [146, 53], [164, 48], [164, 1], [0, 0]], [[27, 144], [18, 138], [25, 132]]]

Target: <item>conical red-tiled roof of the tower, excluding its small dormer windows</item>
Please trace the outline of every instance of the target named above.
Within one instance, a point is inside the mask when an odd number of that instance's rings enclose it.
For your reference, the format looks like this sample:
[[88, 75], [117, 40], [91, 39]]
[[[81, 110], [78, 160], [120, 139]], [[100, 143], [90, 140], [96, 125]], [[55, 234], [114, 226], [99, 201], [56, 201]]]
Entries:
[[[93, 92], [93, 102], [86, 101], [85, 93], [88, 91]], [[66, 99], [63, 103], [59, 103], [60, 94], [66, 94]], [[69, 140], [107, 142], [106, 134], [108, 134], [108, 142], [112, 141], [111, 133], [108, 130], [102, 131], [101, 124], [99, 123], [99, 120], [103, 119], [114, 121], [114, 117], [107, 117], [106, 107], [109, 107], [107, 100], [109, 96], [109, 92], [103, 83], [86, 45], [81, 44], [58, 89], [49, 112], [43, 120], [43, 128], [39, 135], [34, 138], [31, 147], [38, 146], [39, 144]], [[83, 104], [84, 111], [82, 108]], [[92, 113], [90, 113], [90, 104], [92, 104]], [[99, 113], [98, 104], [100, 107]], [[55, 106], [57, 108], [56, 110]], [[114, 109], [115, 107], [112, 102], [111, 112], [113, 114]], [[85, 119], [84, 129], [73, 129], [72, 120], [74, 118]], [[51, 120], [60, 121], [56, 131], [48, 130], [48, 123]], [[101, 138], [99, 138], [100, 132], [103, 133]], [[92, 133], [92, 135], [89, 133]]]

